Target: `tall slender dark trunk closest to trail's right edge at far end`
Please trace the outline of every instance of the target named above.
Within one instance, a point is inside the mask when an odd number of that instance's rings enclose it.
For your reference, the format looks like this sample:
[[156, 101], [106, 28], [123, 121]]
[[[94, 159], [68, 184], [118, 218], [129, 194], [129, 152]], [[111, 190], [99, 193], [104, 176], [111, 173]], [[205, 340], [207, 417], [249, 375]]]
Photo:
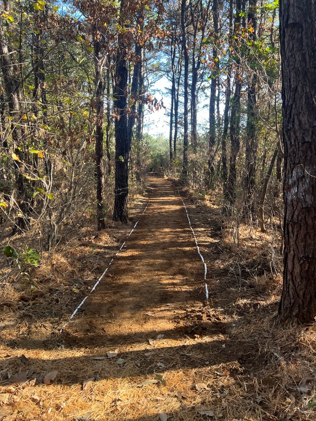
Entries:
[[185, 12], [186, 12], [186, 0], [181, 2], [181, 30], [182, 30], [182, 51], [184, 55], [184, 115], [183, 115], [183, 166], [182, 166], [182, 181], [184, 184], [188, 182], [188, 147], [189, 147], [189, 126], [188, 126], [188, 114], [189, 114], [189, 53], [186, 36], [185, 26]]

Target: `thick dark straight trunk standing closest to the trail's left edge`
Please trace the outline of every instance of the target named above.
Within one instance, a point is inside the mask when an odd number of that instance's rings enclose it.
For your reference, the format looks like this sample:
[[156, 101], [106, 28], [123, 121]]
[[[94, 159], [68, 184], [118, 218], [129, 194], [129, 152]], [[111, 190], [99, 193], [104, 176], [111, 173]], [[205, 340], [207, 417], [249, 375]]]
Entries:
[[[124, 16], [125, 0], [120, 2], [120, 16]], [[127, 128], [127, 45], [126, 37], [118, 35], [118, 53], [115, 73], [115, 188], [113, 220], [127, 222], [128, 160], [130, 141]]]

